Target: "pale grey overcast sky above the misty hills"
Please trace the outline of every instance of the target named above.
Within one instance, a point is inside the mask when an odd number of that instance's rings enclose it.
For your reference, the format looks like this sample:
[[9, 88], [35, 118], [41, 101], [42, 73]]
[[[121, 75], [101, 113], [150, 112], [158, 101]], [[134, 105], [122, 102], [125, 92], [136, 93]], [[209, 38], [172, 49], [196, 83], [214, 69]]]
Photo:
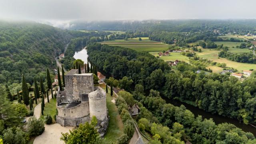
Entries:
[[0, 0], [0, 19], [72, 20], [256, 18], [256, 0]]

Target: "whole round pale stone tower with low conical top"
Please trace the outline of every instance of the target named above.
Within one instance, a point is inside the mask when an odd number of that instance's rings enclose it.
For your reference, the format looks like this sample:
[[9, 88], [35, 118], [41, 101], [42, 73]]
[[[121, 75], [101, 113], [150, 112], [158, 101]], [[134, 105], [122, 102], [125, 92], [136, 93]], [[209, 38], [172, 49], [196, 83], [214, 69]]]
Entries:
[[89, 95], [89, 110], [90, 117], [96, 116], [98, 120], [107, 119], [107, 105], [106, 105], [106, 92], [104, 90], [97, 90], [90, 92]]

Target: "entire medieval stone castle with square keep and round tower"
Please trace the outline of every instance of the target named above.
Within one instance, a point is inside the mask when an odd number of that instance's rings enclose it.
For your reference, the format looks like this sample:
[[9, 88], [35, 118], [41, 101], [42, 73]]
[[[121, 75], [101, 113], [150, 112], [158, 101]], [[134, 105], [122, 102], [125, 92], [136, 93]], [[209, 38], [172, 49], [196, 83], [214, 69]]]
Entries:
[[77, 69], [72, 69], [64, 78], [65, 90], [59, 90], [56, 96], [56, 122], [62, 126], [78, 126], [96, 116], [98, 132], [103, 136], [108, 128], [106, 92], [94, 87], [91, 73], [78, 74]]

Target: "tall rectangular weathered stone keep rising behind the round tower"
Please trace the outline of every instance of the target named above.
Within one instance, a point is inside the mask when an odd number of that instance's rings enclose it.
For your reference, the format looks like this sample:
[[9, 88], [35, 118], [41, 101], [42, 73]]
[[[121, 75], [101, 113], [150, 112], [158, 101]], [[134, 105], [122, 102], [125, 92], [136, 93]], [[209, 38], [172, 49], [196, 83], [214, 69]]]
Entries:
[[74, 74], [65, 76], [66, 97], [69, 102], [81, 101], [82, 94], [94, 91], [92, 74]]

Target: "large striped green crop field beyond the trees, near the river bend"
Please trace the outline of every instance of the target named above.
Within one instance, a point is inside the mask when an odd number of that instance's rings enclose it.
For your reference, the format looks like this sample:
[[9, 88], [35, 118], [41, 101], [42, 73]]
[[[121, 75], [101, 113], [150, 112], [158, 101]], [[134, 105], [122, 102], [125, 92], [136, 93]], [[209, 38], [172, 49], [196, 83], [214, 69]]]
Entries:
[[162, 42], [156, 42], [148, 40], [148, 37], [142, 38], [142, 41], [139, 41], [138, 38], [128, 39], [128, 40], [112, 40], [100, 42], [101, 44], [108, 44], [110, 46], [122, 46], [125, 48], [131, 48], [137, 51], [146, 51], [146, 52], [159, 52], [163, 50], [168, 50], [168, 44]]

